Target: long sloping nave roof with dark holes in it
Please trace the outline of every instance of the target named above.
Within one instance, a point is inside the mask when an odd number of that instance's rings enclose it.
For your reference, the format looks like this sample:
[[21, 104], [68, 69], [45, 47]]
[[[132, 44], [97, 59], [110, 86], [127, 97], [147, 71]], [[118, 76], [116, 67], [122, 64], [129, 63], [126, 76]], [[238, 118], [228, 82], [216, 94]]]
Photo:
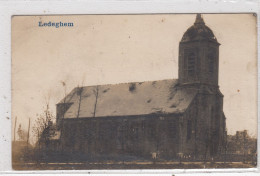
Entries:
[[71, 103], [64, 118], [93, 117], [95, 109], [95, 117], [180, 114], [185, 112], [196, 92], [178, 89], [177, 82], [168, 79], [76, 87], [60, 103]]

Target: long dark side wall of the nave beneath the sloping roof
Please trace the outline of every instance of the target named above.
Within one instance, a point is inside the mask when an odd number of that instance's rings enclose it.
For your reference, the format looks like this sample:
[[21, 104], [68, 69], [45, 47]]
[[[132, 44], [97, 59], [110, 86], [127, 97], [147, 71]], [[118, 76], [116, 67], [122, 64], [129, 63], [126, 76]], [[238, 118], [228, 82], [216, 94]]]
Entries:
[[176, 158], [179, 115], [65, 119], [62, 148], [86, 155], [129, 155]]

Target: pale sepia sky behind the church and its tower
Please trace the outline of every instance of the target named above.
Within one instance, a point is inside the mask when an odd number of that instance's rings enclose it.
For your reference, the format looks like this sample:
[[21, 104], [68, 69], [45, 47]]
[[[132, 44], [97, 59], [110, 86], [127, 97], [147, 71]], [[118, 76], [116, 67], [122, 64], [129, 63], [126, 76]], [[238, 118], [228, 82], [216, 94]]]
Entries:
[[[178, 78], [178, 48], [195, 14], [14, 16], [12, 122], [28, 128], [74, 87]], [[257, 134], [257, 26], [253, 14], [204, 14], [220, 45], [228, 134]], [[39, 22], [73, 27], [39, 27]]]

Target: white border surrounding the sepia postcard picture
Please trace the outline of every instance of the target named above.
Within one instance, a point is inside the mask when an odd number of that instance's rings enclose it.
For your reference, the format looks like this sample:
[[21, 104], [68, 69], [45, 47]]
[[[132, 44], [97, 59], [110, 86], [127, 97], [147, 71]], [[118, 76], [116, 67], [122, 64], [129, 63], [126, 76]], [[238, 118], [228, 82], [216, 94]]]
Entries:
[[[12, 171], [11, 167], [11, 17], [13, 15], [134, 14], [134, 13], [256, 13], [259, 32], [259, 0], [2, 0], [0, 1], [0, 174], [4, 175], [245, 175], [260, 174], [256, 169], [165, 169], [165, 170], [63, 170]], [[259, 41], [258, 35], [258, 41]], [[258, 44], [258, 55], [259, 55]], [[259, 57], [258, 57], [259, 58]], [[258, 69], [260, 64], [258, 64]], [[258, 83], [259, 83], [258, 73]], [[259, 90], [259, 84], [258, 84]], [[258, 93], [259, 103], [260, 93]], [[258, 110], [258, 117], [260, 113]], [[8, 118], [9, 119], [8, 119]], [[258, 129], [260, 120], [258, 118]], [[258, 130], [258, 139], [260, 133]], [[258, 153], [260, 149], [258, 140]]]

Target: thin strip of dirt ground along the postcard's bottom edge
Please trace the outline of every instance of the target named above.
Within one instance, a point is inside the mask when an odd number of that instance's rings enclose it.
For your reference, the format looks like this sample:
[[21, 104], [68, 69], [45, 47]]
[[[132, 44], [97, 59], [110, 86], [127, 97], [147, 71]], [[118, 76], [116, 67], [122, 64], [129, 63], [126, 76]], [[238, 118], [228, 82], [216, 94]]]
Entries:
[[14, 170], [104, 170], [104, 169], [208, 169], [254, 168], [242, 162], [117, 162], [117, 163], [14, 163]]

